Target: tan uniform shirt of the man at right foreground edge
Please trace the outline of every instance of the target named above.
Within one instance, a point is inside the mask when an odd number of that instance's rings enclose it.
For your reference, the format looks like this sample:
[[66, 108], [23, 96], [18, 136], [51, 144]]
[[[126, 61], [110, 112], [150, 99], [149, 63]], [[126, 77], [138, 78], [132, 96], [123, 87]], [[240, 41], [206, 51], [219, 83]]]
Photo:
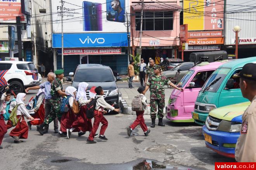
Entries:
[[240, 137], [235, 146], [237, 162], [256, 162], [256, 96], [242, 116]]

